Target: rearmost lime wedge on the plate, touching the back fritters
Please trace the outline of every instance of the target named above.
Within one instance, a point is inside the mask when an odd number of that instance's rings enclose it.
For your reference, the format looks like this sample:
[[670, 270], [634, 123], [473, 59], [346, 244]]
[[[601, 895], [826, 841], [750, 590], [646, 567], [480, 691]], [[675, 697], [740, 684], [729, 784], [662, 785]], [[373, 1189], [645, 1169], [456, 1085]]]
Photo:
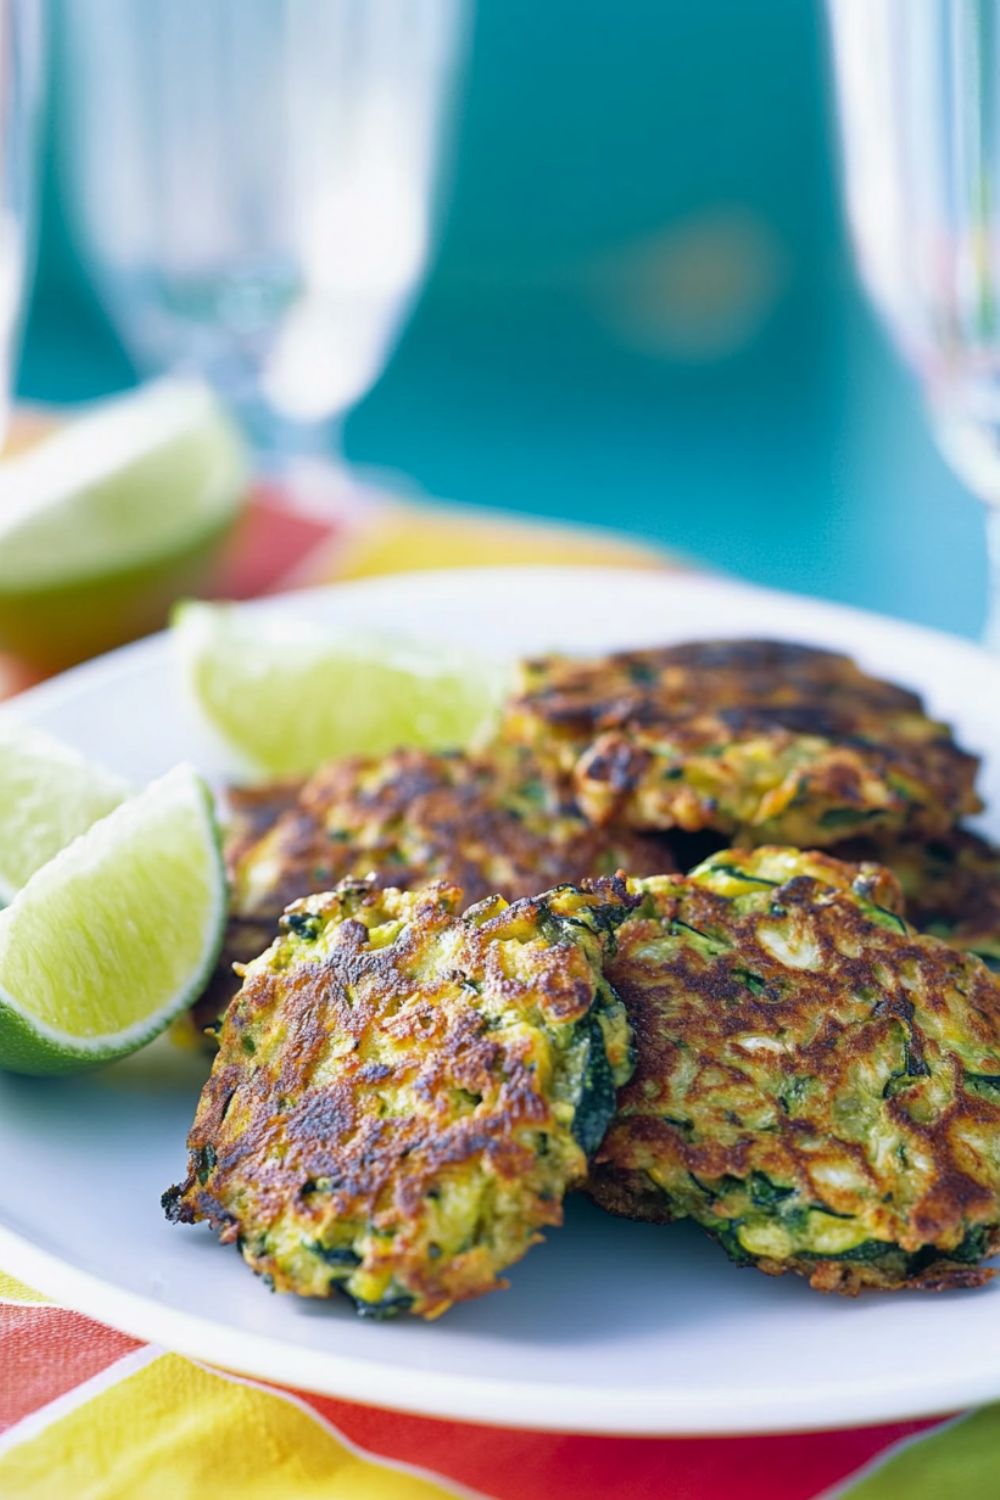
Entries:
[[495, 723], [507, 686], [493, 662], [232, 604], [181, 604], [174, 636], [202, 724], [250, 776], [304, 776], [334, 756], [397, 746], [466, 746]]

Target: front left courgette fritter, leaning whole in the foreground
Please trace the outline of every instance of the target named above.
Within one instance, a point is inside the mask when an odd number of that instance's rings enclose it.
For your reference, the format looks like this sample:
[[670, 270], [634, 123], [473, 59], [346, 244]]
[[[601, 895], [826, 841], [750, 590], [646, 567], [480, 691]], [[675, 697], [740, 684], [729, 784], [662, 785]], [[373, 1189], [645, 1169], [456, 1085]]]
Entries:
[[502, 1286], [562, 1221], [631, 1071], [601, 972], [630, 897], [460, 904], [345, 880], [285, 914], [226, 1011], [169, 1218], [373, 1317]]

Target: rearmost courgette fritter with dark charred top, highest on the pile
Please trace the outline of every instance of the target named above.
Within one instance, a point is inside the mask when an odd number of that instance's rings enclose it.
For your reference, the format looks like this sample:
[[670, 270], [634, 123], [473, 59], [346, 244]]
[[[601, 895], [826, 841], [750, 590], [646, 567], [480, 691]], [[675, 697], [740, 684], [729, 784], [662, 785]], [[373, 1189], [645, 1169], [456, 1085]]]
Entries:
[[825, 848], [933, 837], [981, 806], [976, 758], [915, 693], [789, 642], [526, 662], [502, 732], [555, 756], [598, 825]]

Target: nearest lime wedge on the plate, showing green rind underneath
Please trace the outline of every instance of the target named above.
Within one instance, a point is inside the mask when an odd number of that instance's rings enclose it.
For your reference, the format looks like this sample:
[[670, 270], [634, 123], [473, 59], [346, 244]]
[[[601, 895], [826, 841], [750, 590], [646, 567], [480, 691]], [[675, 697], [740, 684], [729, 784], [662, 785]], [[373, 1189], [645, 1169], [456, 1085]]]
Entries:
[[73, 1072], [135, 1052], [202, 988], [225, 914], [211, 798], [178, 766], [0, 912], [0, 1066]]

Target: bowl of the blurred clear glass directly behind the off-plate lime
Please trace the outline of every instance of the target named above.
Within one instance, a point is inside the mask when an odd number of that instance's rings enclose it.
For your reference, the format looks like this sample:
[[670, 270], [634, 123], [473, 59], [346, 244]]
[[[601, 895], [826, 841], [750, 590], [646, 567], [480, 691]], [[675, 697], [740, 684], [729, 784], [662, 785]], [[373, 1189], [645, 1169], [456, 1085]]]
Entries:
[[63, 164], [142, 374], [336, 446], [420, 288], [469, 0], [61, 0]]

